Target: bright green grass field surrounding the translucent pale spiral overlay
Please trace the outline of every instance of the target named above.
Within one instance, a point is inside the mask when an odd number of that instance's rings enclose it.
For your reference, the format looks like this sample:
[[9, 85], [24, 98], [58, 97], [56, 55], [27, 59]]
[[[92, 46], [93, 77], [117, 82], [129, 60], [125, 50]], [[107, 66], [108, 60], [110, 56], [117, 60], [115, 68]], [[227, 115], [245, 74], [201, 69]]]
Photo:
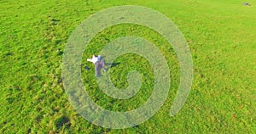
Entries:
[[[255, 133], [256, 130], [256, 2], [240, 0], [0, 0], [0, 132], [1, 133]], [[171, 89], [161, 109], [148, 121], [127, 129], [102, 128], [84, 120], [68, 101], [61, 80], [65, 45], [90, 14], [118, 5], [153, 8], [183, 32], [193, 58], [194, 81], [189, 98], [175, 116], [169, 112], [179, 87], [179, 64], [170, 44], [141, 25], [115, 25], [95, 36], [82, 65], [120, 36], [153, 42], [170, 67]], [[97, 46], [97, 47], [96, 47]], [[65, 54], [65, 53], [64, 53]], [[137, 61], [137, 62], [135, 62]], [[131, 99], [118, 100], [97, 86], [94, 70], [82, 70], [84, 87], [102, 108], [136, 109], [154, 86], [148, 61], [127, 53], [110, 71], [116, 87], [128, 86], [131, 70], [143, 84]]]

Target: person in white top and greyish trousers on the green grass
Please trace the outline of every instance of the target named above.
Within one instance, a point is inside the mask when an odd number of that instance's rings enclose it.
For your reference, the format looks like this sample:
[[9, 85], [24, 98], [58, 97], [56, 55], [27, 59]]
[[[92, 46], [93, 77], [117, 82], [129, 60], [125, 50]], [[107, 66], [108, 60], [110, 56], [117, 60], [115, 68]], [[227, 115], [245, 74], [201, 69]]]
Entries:
[[105, 69], [105, 60], [102, 59], [101, 55], [98, 55], [97, 57], [95, 55], [92, 55], [92, 58], [87, 59], [87, 61], [90, 61], [95, 65], [95, 75], [96, 76], [101, 75], [101, 69], [103, 69], [104, 71], [107, 71]]

